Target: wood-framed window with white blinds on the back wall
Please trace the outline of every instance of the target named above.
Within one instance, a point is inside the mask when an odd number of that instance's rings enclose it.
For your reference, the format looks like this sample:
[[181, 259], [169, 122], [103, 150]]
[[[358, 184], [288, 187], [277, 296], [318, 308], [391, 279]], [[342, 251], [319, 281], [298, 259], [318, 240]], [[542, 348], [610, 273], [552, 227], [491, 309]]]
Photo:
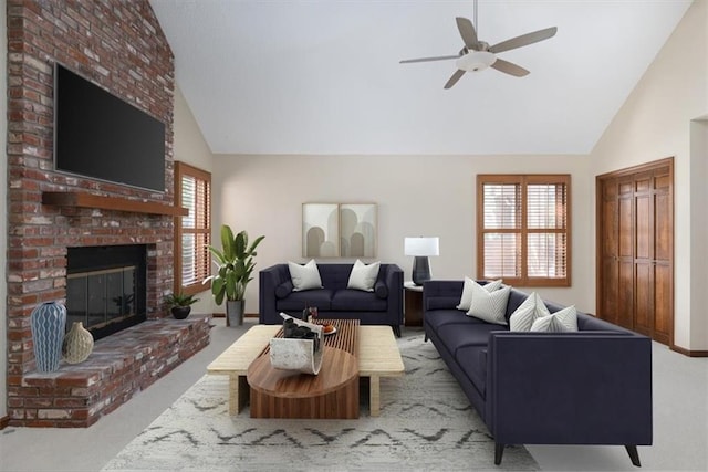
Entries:
[[477, 275], [570, 286], [570, 175], [477, 176]]

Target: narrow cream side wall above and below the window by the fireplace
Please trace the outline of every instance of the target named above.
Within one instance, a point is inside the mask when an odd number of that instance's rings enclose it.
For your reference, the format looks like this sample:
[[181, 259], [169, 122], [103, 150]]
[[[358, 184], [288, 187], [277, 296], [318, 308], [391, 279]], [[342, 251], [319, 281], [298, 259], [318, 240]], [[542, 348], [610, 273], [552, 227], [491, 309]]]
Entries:
[[[175, 87], [174, 134], [175, 160], [211, 172], [214, 156], [178, 86]], [[202, 292], [197, 297], [199, 302], [192, 305], [194, 313], [214, 313], [210, 292]]]

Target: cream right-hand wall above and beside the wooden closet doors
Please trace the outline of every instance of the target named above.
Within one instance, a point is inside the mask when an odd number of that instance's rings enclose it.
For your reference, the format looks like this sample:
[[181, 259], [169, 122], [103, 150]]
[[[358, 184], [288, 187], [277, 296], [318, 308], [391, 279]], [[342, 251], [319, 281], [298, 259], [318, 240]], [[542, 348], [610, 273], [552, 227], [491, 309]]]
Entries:
[[[691, 189], [704, 186], [706, 175], [693, 174], [691, 162], [706, 159], [706, 155], [691, 153], [691, 120], [708, 113], [707, 30], [708, 1], [698, 0], [637, 83], [590, 159], [590, 170], [597, 175], [675, 157], [674, 335], [677, 346], [694, 350], [708, 349], [708, 336], [691, 327], [705, 323], [701, 319], [706, 316], [705, 302], [696, 304], [697, 300], [691, 297], [691, 293], [706, 293], [705, 280], [695, 280], [691, 270], [706, 261], [705, 252], [691, 252], [691, 240], [706, 243], [705, 227], [691, 220], [691, 207], [698, 206], [694, 211], [705, 211], [706, 204], [705, 199], [693, 199]], [[594, 212], [594, 207], [591, 211]], [[595, 248], [589, 249], [594, 258]], [[591, 282], [594, 291], [594, 279]]]

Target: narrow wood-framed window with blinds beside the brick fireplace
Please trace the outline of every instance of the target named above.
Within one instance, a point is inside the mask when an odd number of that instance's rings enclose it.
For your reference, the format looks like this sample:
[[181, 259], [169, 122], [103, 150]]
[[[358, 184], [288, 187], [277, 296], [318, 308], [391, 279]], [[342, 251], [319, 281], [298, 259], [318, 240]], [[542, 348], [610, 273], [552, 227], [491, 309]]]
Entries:
[[184, 162], [175, 166], [175, 198], [189, 210], [175, 219], [175, 292], [195, 294], [209, 289], [211, 174]]

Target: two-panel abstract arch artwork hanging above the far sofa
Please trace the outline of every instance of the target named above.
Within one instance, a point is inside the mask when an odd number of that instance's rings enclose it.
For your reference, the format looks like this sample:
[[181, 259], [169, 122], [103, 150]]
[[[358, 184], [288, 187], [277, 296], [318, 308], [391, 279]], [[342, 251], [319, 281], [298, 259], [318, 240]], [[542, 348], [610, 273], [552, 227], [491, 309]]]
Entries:
[[303, 203], [303, 258], [376, 256], [376, 203]]

